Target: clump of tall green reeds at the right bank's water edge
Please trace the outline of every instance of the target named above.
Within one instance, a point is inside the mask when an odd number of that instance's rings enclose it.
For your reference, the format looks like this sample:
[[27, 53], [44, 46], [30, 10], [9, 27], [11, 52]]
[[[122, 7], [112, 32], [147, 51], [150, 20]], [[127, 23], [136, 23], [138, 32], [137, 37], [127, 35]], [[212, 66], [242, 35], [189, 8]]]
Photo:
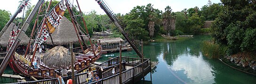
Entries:
[[212, 41], [204, 41], [201, 45], [202, 53], [209, 58], [219, 58], [225, 56], [227, 47], [220, 46]]

